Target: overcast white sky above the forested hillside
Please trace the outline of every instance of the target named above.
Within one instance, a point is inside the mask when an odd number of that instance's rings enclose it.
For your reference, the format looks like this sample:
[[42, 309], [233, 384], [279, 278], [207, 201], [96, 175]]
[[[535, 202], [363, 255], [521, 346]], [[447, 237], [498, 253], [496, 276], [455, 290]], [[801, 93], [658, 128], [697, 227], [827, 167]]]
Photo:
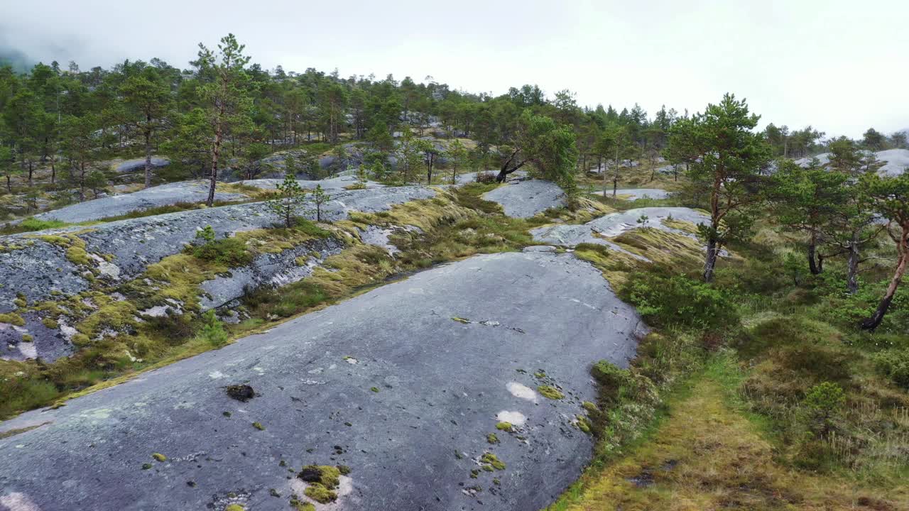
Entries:
[[0, 47], [83, 69], [186, 67], [233, 32], [254, 62], [392, 73], [472, 92], [538, 84], [581, 105], [703, 109], [724, 92], [763, 123], [859, 136], [909, 127], [909, 1], [5, 0]]

